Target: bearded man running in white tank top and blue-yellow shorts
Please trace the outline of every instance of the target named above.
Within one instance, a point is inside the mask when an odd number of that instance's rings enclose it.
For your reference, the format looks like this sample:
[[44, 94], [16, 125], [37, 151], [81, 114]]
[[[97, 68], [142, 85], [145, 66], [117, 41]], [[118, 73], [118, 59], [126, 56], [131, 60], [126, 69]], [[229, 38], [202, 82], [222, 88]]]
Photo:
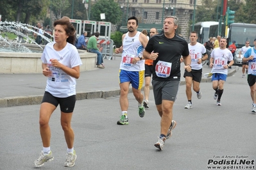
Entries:
[[130, 84], [132, 84], [132, 92], [138, 102], [139, 116], [143, 118], [145, 114], [143, 105], [144, 97], [141, 93], [145, 70], [142, 52], [148, 43], [148, 38], [146, 35], [137, 31], [137, 27], [138, 19], [136, 17], [128, 18], [128, 32], [122, 36], [122, 46], [115, 49], [116, 54], [122, 52], [119, 70], [119, 86], [121, 91], [119, 102], [122, 116], [117, 121], [117, 125], [128, 125], [128, 92]]

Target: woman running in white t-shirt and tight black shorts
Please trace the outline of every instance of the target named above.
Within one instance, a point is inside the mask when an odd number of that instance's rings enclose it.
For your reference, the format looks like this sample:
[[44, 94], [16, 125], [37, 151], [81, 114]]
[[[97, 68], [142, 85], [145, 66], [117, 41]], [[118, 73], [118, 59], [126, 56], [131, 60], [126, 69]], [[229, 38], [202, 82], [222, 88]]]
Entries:
[[55, 42], [47, 43], [41, 57], [42, 73], [48, 78], [39, 118], [43, 149], [40, 157], [34, 162], [35, 167], [43, 166], [44, 162], [53, 160], [53, 153], [50, 148], [49, 120], [59, 104], [60, 124], [67, 143], [64, 166], [73, 167], [76, 160], [71, 119], [76, 103], [76, 79], [80, 77], [81, 59], [78, 50], [73, 45], [75, 40], [74, 26], [65, 18], [55, 20]]

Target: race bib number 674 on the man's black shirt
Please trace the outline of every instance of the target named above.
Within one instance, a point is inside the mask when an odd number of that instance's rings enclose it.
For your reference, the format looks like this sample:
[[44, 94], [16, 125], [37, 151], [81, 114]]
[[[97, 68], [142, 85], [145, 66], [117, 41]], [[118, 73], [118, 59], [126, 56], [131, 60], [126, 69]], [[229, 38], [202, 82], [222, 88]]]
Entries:
[[157, 65], [155, 66], [155, 73], [157, 77], [169, 77], [171, 74], [171, 63], [166, 61], [158, 61]]

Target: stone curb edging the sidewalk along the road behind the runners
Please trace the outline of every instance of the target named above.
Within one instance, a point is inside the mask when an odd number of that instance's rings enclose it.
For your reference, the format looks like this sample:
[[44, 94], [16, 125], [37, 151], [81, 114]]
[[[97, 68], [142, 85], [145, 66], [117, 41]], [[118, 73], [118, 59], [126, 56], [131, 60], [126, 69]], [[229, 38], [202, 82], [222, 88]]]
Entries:
[[[234, 75], [239, 66], [235, 66], [230, 72], [228, 72], [228, 77]], [[212, 82], [211, 78], [203, 78], [201, 82]], [[180, 86], [185, 85], [185, 81], [180, 81]], [[143, 89], [143, 88], [142, 88]], [[150, 86], [152, 89], [152, 86]], [[132, 88], [130, 88], [129, 93], [132, 93]], [[120, 89], [110, 90], [110, 91], [80, 91], [76, 93], [76, 100], [85, 100], [93, 98], [108, 98], [113, 96], [120, 95]], [[0, 99], [0, 107], [12, 107], [19, 105], [37, 105], [41, 104], [43, 95], [30, 95], [30, 96], [21, 96], [21, 97], [6, 97]]]

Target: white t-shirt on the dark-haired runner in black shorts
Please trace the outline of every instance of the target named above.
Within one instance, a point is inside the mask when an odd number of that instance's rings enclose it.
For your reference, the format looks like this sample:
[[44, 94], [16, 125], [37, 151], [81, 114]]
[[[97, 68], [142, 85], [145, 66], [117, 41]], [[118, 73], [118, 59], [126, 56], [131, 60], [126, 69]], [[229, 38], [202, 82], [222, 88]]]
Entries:
[[189, 43], [189, 54], [191, 56], [191, 68], [193, 70], [200, 70], [203, 66], [198, 64], [198, 59], [202, 58], [202, 54], [205, 54], [205, 46], [199, 42], [196, 45]]

